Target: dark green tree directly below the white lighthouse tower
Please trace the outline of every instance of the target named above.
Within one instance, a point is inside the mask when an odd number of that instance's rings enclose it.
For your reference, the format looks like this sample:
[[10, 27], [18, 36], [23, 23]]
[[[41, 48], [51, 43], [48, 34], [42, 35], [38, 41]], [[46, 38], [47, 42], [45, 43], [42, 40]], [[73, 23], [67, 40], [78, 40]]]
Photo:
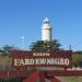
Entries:
[[57, 39], [54, 40], [37, 40], [32, 43], [31, 50], [32, 51], [55, 51], [59, 50], [60, 44]]

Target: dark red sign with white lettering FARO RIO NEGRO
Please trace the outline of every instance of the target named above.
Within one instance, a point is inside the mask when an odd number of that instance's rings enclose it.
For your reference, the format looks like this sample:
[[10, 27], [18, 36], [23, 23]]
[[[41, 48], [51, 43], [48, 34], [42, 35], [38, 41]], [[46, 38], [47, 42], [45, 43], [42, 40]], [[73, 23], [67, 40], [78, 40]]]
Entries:
[[72, 66], [72, 51], [58, 50], [46, 52], [32, 52], [12, 50], [12, 65], [14, 67], [67, 67]]

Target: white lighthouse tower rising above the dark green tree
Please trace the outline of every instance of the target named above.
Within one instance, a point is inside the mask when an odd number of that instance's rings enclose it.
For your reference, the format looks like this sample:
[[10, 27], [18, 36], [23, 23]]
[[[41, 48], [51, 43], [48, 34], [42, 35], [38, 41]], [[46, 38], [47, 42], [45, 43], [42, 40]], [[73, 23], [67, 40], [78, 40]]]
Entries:
[[42, 26], [42, 40], [51, 40], [50, 21], [46, 17]]

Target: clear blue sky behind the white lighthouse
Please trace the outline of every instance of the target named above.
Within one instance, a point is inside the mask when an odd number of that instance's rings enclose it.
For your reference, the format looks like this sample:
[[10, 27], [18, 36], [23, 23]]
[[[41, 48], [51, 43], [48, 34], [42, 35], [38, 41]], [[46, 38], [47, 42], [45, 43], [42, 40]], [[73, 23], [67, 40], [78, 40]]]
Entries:
[[82, 0], [0, 0], [0, 47], [24, 48], [40, 40], [43, 20], [52, 26], [52, 39], [61, 48], [82, 50]]

